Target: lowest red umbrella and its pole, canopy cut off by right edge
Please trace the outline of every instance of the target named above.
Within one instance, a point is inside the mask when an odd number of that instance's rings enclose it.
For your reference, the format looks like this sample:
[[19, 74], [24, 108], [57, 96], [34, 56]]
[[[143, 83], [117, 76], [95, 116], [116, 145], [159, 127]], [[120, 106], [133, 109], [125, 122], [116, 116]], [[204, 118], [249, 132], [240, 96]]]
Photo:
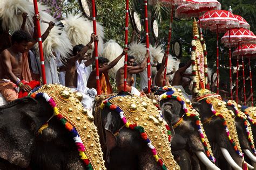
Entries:
[[[251, 71], [251, 58], [256, 57], [256, 44], [246, 44], [238, 47], [238, 49], [235, 49], [233, 52], [233, 57], [239, 55], [246, 56], [248, 58], [248, 64], [249, 64], [249, 70], [250, 70], [250, 85], [251, 85], [251, 94], [253, 94], [253, 88], [252, 88], [252, 71]], [[253, 96], [251, 98], [252, 101], [252, 107], [253, 107]]]

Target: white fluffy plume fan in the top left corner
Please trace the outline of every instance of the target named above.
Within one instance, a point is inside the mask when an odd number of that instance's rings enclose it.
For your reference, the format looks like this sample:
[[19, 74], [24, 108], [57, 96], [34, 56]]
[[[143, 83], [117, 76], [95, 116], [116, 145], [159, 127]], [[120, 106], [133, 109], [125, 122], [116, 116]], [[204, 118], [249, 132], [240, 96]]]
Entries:
[[[38, 3], [41, 20], [55, 22], [55, 19], [46, 12], [47, 9], [49, 9], [47, 6]], [[28, 0], [1, 0], [0, 19], [2, 19], [3, 29], [11, 31], [21, 29], [23, 12], [28, 13], [26, 25], [28, 25], [28, 31], [32, 32], [34, 26], [33, 16], [35, 15], [33, 3]]]

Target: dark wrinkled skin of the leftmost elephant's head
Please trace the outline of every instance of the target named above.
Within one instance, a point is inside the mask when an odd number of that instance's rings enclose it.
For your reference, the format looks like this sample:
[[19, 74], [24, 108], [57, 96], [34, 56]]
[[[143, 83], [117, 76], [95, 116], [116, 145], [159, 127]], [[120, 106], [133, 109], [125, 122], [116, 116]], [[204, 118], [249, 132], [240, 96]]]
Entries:
[[85, 169], [77, 147], [44, 98], [22, 98], [0, 107], [0, 169]]

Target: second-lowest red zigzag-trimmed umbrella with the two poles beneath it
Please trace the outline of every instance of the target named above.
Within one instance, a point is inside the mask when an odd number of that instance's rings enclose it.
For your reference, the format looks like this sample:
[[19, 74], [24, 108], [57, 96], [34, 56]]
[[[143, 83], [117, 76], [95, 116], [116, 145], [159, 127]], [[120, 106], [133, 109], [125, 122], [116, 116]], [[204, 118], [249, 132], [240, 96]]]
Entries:
[[[256, 43], [256, 37], [254, 33], [250, 30], [241, 28], [241, 29], [232, 29], [227, 31], [223, 38], [221, 38], [221, 42], [223, 42], [225, 45], [230, 46], [239, 46], [243, 44], [253, 44]], [[239, 53], [239, 48], [238, 48]], [[241, 54], [242, 54], [242, 48], [241, 48]], [[244, 73], [244, 57], [241, 56], [242, 59], [242, 79], [244, 81], [244, 100], [246, 104], [246, 94], [245, 94], [245, 73]], [[239, 59], [237, 58], [237, 83], [236, 83], [236, 95], [238, 102], [238, 68], [239, 68]]]

